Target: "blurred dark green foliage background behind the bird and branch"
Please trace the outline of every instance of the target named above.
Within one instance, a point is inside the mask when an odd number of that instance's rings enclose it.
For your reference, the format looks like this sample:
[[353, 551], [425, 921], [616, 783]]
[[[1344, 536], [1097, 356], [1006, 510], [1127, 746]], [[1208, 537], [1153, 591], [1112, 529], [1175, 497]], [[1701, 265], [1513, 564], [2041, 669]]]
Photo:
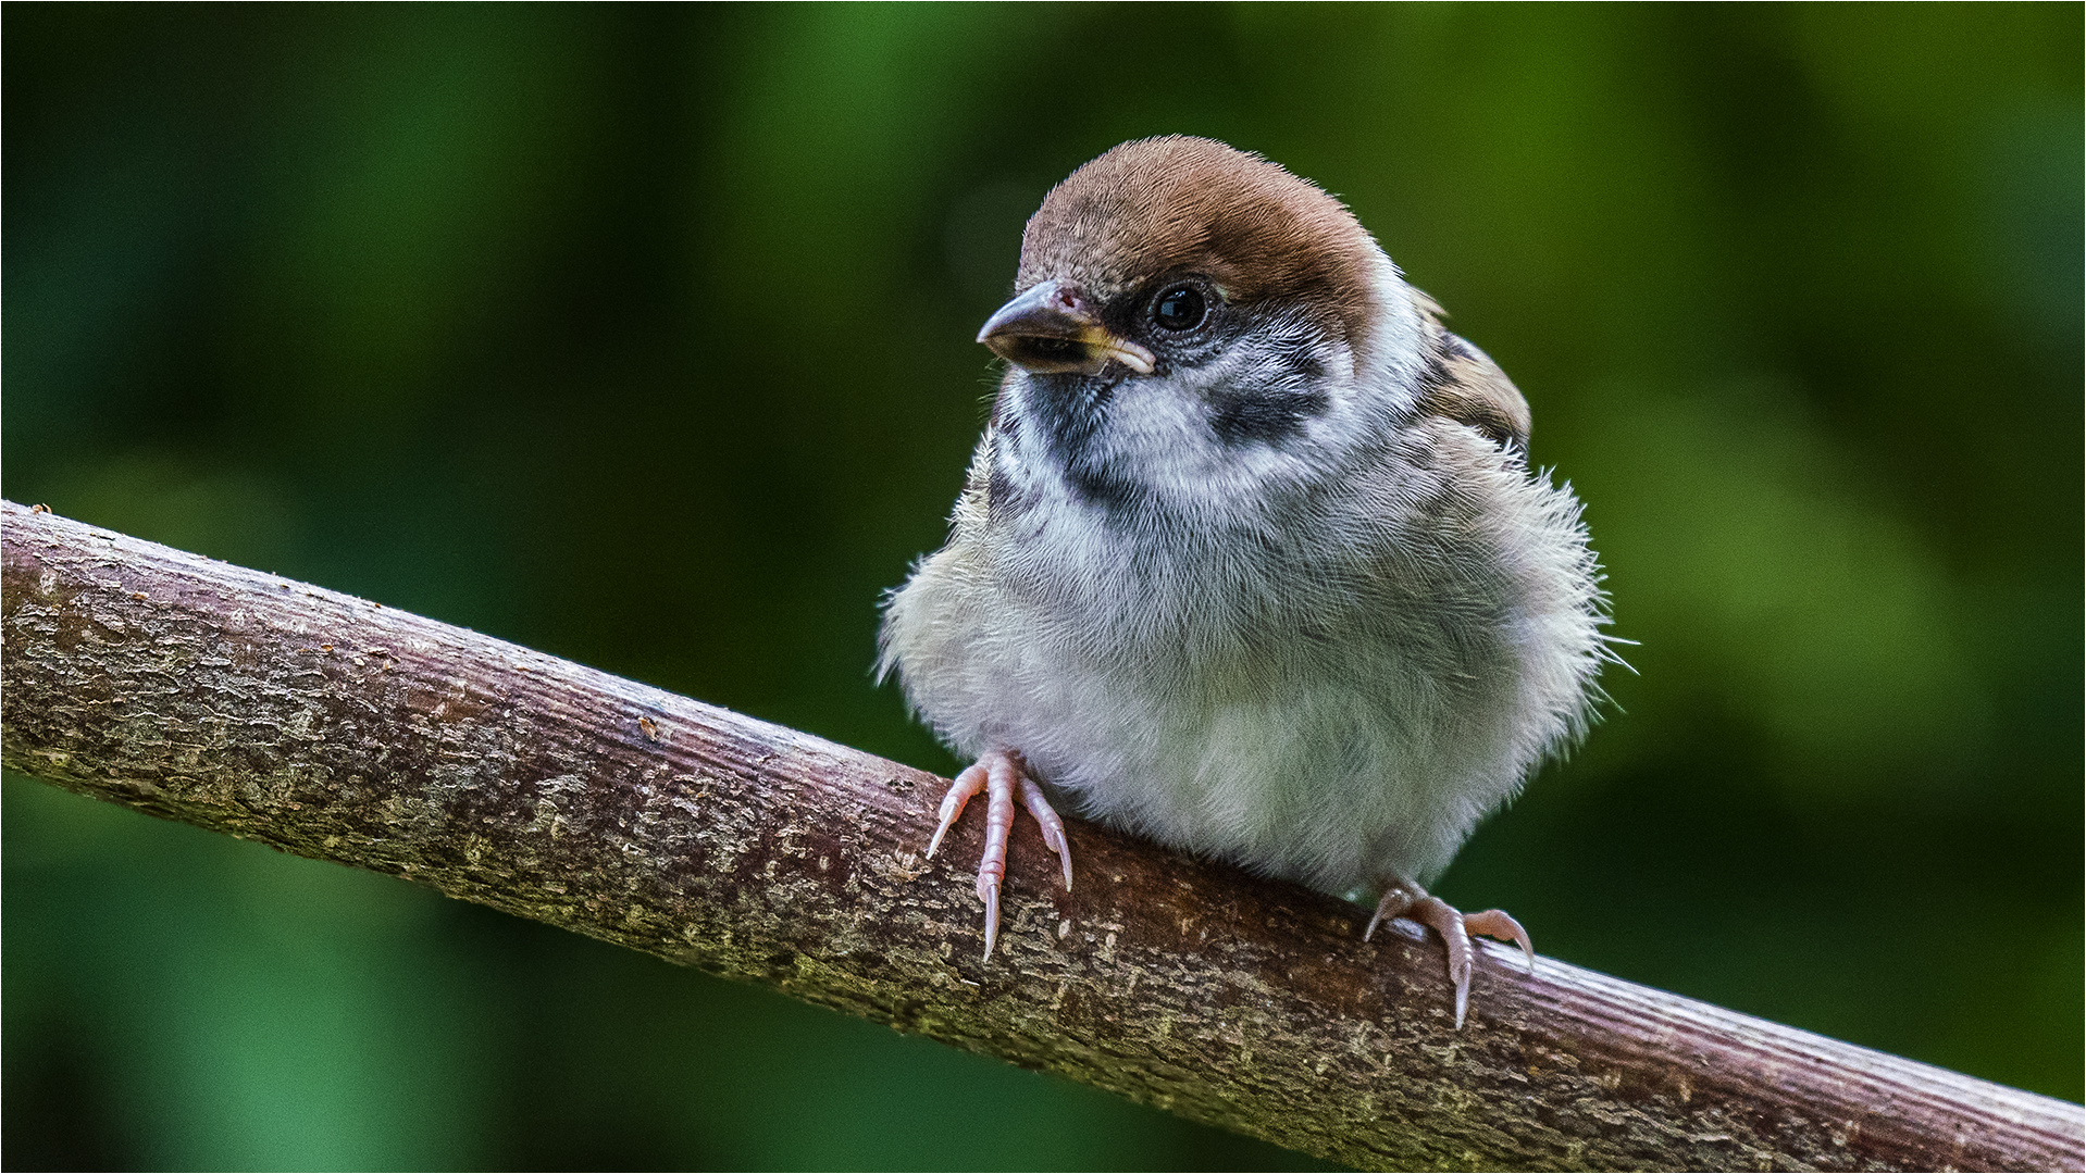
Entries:
[[[868, 678], [1051, 181], [1339, 192], [1638, 669], [1444, 890], [2082, 1095], [2082, 8], [8, 6], [4, 488], [935, 769]], [[4, 1159], [1297, 1155], [8, 778]]]

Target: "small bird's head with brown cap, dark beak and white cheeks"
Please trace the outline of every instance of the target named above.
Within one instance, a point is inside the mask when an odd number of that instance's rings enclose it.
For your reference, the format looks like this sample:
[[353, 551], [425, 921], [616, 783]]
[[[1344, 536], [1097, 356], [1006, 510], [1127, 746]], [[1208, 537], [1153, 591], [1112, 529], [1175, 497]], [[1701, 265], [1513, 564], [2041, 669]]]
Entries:
[[[1106, 511], [1260, 500], [1410, 413], [1421, 317], [1354, 215], [1202, 138], [1126, 142], [1045, 196], [1016, 296], [1001, 478]], [[1272, 484], [1270, 484], [1272, 482]]]

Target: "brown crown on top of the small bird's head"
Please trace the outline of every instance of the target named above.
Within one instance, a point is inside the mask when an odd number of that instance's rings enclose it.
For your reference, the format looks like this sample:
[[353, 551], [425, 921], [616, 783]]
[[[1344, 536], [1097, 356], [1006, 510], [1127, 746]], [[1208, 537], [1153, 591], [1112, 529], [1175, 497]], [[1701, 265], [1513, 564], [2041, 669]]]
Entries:
[[1126, 142], [1051, 188], [1022, 234], [1016, 288], [1072, 279], [1101, 300], [1160, 273], [1208, 275], [1233, 304], [1293, 300], [1352, 340], [1375, 246], [1345, 204], [1216, 140]]

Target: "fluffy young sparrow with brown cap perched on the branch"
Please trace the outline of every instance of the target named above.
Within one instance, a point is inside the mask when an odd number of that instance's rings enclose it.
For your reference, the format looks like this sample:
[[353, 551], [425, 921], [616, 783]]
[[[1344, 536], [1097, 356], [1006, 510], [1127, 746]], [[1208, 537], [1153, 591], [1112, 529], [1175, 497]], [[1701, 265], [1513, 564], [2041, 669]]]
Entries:
[[878, 680], [985, 794], [985, 957], [1016, 807], [1066, 807], [1441, 936], [1462, 1028], [1500, 909], [1425, 886], [1573, 747], [1617, 657], [1529, 407], [1333, 194], [1191, 136], [1049, 190], [947, 544], [887, 592]]

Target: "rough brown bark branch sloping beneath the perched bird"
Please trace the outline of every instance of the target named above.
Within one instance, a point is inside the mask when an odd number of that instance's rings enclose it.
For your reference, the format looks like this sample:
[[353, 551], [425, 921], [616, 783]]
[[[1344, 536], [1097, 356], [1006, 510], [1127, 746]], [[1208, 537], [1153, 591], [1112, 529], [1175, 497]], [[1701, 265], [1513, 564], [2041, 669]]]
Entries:
[[330, 590], [0, 505], [0, 749], [1362, 1168], [2080, 1170], [2078, 1105], [1485, 949], [1072, 824], [997, 957], [945, 780]]

